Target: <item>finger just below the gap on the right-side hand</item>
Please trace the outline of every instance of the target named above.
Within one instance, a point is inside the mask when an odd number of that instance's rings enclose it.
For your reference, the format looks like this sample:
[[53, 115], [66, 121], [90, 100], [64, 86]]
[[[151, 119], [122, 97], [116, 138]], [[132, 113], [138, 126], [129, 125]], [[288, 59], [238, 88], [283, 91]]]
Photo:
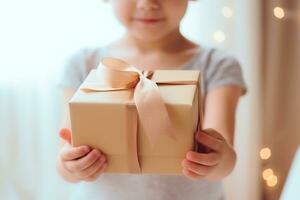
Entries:
[[186, 159], [206, 166], [215, 166], [220, 161], [220, 154], [211, 152], [211, 153], [197, 153], [189, 151], [186, 154]]

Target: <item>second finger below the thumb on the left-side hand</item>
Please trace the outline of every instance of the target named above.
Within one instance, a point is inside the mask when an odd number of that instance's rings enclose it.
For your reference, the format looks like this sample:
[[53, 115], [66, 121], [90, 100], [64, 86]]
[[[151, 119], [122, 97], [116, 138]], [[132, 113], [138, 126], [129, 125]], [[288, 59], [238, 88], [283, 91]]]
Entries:
[[101, 156], [101, 153], [97, 149], [93, 149], [88, 154], [86, 154], [84, 157], [78, 159], [78, 160], [71, 160], [66, 161], [65, 166], [67, 169], [69, 169], [71, 172], [78, 172], [82, 171], [88, 167], [90, 167], [93, 163], [96, 162]]

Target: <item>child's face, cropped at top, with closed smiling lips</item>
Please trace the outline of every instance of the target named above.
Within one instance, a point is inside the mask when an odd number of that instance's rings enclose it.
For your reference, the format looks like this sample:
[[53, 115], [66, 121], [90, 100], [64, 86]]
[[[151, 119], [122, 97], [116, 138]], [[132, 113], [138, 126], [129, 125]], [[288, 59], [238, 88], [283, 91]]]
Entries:
[[188, 0], [112, 0], [112, 4], [129, 34], [151, 41], [177, 30]]

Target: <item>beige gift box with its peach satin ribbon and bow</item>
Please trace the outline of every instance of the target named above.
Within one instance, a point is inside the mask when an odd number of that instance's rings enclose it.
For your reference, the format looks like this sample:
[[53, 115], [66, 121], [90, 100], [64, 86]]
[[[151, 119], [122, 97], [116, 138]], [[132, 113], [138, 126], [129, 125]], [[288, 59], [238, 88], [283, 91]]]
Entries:
[[108, 173], [182, 174], [201, 122], [200, 75], [102, 60], [69, 101], [72, 145], [100, 149]]

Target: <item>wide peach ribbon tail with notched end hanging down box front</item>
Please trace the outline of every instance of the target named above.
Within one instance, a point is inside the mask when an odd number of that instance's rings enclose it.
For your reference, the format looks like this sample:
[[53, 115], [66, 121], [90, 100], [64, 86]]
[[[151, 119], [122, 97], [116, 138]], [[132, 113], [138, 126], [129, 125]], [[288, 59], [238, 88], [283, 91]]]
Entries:
[[141, 125], [144, 127], [152, 146], [161, 134], [166, 134], [176, 140], [166, 105], [158, 86], [153, 81], [141, 76], [134, 91], [134, 100]]

